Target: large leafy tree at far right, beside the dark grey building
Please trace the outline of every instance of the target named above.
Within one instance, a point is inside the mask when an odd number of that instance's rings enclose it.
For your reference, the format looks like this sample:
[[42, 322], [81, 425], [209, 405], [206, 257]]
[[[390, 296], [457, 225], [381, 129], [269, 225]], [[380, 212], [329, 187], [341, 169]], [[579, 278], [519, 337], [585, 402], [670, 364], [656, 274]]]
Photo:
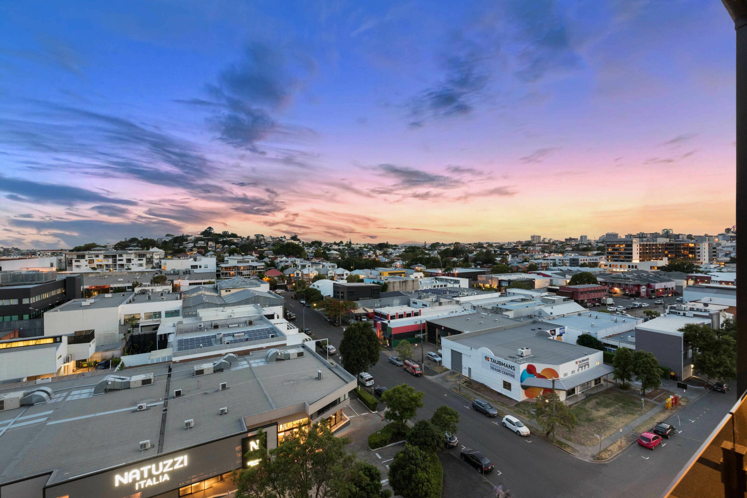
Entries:
[[710, 379], [726, 381], [737, 377], [737, 325], [725, 322], [722, 329], [707, 324], [686, 324], [680, 329], [692, 347], [695, 371]]

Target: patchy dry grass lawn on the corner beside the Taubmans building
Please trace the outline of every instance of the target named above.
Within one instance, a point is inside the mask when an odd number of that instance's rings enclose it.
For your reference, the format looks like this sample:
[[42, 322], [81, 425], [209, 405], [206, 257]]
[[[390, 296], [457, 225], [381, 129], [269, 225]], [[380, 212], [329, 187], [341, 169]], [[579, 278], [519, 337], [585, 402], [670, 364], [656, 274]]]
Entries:
[[560, 428], [557, 433], [568, 441], [593, 447], [599, 443], [595, 434], [607, 438], [654, 406], [656, 403], [646, 400], [644, 408], [641, 408], [639, 397], [607, 389], [572, 405], [571, 413], [576, 415], [576, 429], [568, 432]]

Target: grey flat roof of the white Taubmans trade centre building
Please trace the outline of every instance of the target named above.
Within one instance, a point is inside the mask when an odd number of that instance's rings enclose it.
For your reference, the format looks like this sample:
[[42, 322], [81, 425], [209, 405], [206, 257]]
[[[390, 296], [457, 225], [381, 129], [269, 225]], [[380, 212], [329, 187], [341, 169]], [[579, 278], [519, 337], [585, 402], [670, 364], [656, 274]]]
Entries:
[[[532, 321], [531, 323], [514, 322], [514, 327], [504, 327], [503, 330], [495, 332], [472, 332], [470, 334], [452, 335], [443, 338], [443, 341], [453, 341], [462, 346], [473, 349], [487, 347], [493, 352], [493, 356], [506, 359], [514, 363], [545, 363], [548, 365], [560, 365], [597, 353], [589, 347], [578, 346], [568, 342], [556, 341], [548, 337], [537, 335], [539, 327], [550, 330], [557, 324], [543, 321]], [[524, 359], [518, 358], [520, 347], [530, 347], [531, 356]]]

